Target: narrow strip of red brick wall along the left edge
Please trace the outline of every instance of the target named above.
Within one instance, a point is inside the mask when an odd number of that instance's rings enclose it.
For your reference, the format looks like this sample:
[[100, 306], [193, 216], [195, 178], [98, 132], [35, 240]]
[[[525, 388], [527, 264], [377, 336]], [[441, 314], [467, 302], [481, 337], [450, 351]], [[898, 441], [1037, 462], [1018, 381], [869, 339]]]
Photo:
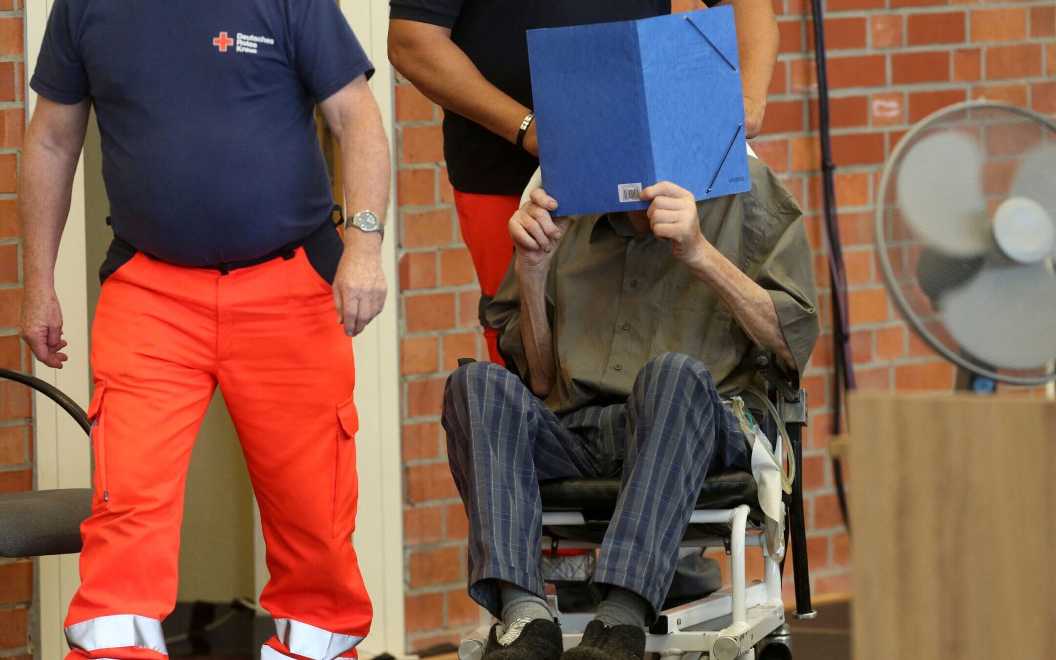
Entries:
[[[15, 215], [16, 172], [25, 127], [22, 3], [0, 0], [0, 367], [29, 371], [18, 339], [22, 304], [21, 240]], [[0, 381], [0, 492], [33, 488], [30, 393]], [[30, 660], [27, 612], [33, 562], [0, 560], [0, 657]]]

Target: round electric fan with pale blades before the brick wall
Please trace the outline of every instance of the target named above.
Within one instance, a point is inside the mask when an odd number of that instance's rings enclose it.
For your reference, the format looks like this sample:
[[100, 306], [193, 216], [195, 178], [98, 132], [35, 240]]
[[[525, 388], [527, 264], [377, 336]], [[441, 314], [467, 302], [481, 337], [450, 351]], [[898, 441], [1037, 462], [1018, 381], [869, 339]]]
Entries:
[[1013, 106], [940, 110], [899, 143], [878, 194], [888, 290], [921, 338], [994, 380], [1056, 379], [1056, 124]]

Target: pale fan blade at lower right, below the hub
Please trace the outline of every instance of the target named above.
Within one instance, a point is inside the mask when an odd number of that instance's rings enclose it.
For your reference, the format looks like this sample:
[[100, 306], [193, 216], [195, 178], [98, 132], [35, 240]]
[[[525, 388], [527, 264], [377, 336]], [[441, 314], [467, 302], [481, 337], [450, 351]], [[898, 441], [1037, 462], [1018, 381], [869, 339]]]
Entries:
[[1044, 264], [984, 268], [945, 296], [942, 318], [987, 364], [1041, 366], [1056, 359], [1056, 274]]

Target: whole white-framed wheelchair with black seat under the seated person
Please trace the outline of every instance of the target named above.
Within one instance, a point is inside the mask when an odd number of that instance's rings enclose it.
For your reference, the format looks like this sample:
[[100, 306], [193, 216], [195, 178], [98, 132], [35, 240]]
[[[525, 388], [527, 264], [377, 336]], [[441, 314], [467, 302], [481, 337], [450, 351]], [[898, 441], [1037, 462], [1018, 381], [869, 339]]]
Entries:
[[[807, 393], [799, 388], [798, 375], [790, 372], [774, 353], [753, 347], [744, 360], [767, 381], [768, 396], [785, 422], [795, 465], [792, 492], [784, 496], [786, 547], [791, 546], [797, 619], [813, 619], [807, 535], [804, 520], [803, 429], [807, 425]], [[762, 428], [768, 438], [776, 438], [774, 420]], [[775, 451], [780, 455], [779, 442]], [[543, 502], [544, 561], [561, 551], [592, 551], [600, 547], [620, 493], [620, 479], [570, 477], [540, 484]], [[681, 546], [724, 547], [730, 555], [731, 586], [694, 602], [661, 611], [649, 626], [645, 652], [667, 660], [791, 660], [791, 629], [781, 600], [785, 561], [767, 552], [766, 530], [758, 506], [755, 478], [750, 472], [709, 475], [704, 480]], [[763, 580], [748, 584], [747, 549], [759, 548], [763, 555]], [[586, 580], [579, 574], [571, 580]], [[568, 576], [560, 580], [565, 582]], [[561, 624], [565, 648], [580, 643], [591, 614], [565, 611], [548, 577], [547, 600]], [[491, 626], [491, 616], [480, 610], [480, 627], [458, 647], [459, 660], [478, 660]]]

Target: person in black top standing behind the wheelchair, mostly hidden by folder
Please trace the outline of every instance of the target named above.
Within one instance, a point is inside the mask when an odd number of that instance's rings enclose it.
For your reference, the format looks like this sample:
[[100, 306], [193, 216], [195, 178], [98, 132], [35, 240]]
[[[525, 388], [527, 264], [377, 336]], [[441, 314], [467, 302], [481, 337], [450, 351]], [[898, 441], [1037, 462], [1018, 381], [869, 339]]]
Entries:
[[[754, 137], [777, 59], [773, 6], [770, 0], [705, 2], [733, 5], [746, 132]], [[510, 265], [507, 222], [539, 167], [526, 31], [670, 14], [671, 0], [391, 0], [390, 5], [389, 59], [446, 109], [444, 155], [483, 308]], [[485, 336], [491, 359], [501, 362], [496, 332], [485, 325]]]

